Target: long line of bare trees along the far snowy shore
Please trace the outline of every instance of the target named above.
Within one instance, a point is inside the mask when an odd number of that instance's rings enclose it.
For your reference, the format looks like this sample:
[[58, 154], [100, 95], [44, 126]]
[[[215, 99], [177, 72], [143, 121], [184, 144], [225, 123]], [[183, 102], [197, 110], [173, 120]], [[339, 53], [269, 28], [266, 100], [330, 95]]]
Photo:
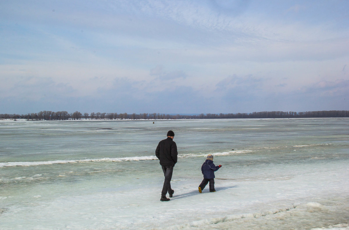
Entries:
[[100, 113], [91, 112], [82, 114], [79, 111], [68, 113], [67, 111], [40, 111], [38, 113], [28, 114], [0, 114], [0, 119], [26, 119], [26, 120], [123, 120], [123, 119], [233, 119], [233, 118], [331, 118], [331, 117], [349, 117], [348, 110], [332, 111], [309, 111], [309, 112], [282, 112], [265, 111], [253, 113], [201, 113], [194, 115], [171, 115], [161, 113]]

